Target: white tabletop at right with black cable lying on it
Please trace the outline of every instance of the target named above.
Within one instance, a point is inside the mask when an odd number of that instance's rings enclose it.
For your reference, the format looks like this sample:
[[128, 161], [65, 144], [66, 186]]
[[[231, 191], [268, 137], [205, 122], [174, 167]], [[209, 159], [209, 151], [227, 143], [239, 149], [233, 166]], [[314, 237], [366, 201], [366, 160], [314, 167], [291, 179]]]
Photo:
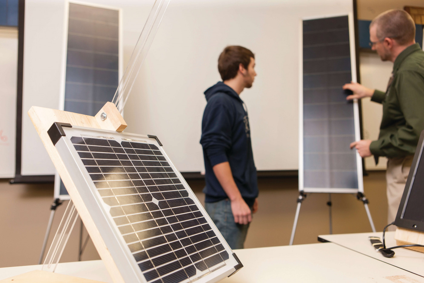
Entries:
[[[394, 231], [386, 232], [385, 241], [386, 247], [397, 246], [396, 240], [394, 239]], [[338, 234], [338, 235], [319, 235], [318, 239], [336, 243], [345, 248], [351, 249], [355, 252], [359, 252], [368, 257], [381, 260], [385, 263], [397, 266], [409, 272], [413, 272], [417, 275], [424, 277], [424, 253], [416, 252], [410, 249], [394, 249], [395, 255], [393, 258], [385, 258], [380, 252], [376, 252], [369, 236], [380, 237], [383, 241], [383, 233], [357, 233], [357, 234]]]

